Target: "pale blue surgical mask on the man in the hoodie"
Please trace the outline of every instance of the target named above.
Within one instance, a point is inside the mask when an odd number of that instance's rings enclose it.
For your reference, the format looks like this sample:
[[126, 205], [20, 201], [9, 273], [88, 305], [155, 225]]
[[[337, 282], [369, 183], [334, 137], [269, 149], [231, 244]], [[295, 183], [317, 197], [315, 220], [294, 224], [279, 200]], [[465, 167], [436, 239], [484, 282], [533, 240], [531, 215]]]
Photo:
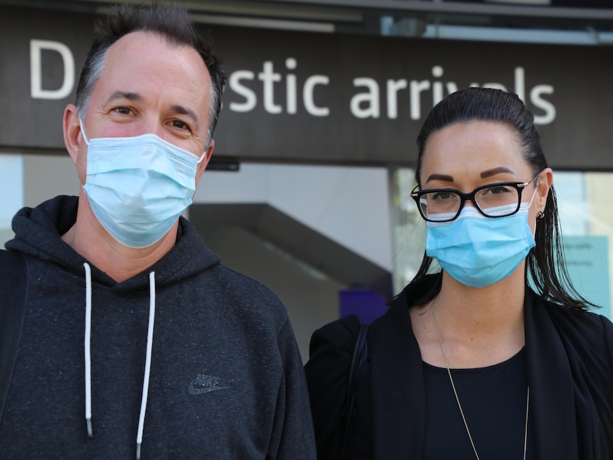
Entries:
[[140, 249], [166, 235], [191, 205], [198, 156], [157, 137], [87, 141], [83, 189], [97, 220], [117, 242]]

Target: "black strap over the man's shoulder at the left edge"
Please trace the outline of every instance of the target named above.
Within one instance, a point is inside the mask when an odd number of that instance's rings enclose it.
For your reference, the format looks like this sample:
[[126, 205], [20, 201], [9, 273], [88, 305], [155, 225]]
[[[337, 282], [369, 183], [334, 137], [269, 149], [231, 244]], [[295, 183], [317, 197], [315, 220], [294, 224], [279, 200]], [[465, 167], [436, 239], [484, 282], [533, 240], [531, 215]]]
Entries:
[[0, 250], [0, 421], [17, 358], [26, 313], [26, 261]]

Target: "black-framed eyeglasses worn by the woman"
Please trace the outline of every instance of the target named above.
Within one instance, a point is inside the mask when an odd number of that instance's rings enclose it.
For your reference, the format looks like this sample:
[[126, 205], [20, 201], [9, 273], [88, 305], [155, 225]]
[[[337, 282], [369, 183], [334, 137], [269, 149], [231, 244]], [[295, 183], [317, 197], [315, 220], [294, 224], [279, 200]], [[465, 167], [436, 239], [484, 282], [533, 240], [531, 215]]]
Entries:
[[422, 218], [429, 222], [449, 222], [462, 212], [464, 203], [471, 200], [479, 213], [488, 218], [500, 218], [515, 214], [521, 206], [521, 192], [538, 178], [528, 182], [501, 182], [477, 187], [471, 193], [454, 188], [433, 188], [411, 192]]

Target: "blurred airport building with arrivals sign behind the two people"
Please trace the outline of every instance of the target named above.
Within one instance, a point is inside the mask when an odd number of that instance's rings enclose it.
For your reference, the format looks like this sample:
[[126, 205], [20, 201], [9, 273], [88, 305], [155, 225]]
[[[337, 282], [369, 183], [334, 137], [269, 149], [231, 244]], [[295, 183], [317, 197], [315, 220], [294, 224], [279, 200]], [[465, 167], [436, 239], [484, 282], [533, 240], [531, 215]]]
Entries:
[[[22, 206], [78, 193], [62, 113], [112, 3], [0, 0], [0, 245]], [[415, 137], [468, 86], [516, 92], [533, 110], [572, 277], [611, 316], [613, 2], [176, 3], [230, 75], [187, 217], [225, 264], [277, 292], [303, 359], [315, 328], [380, 314], [415, 274]]]

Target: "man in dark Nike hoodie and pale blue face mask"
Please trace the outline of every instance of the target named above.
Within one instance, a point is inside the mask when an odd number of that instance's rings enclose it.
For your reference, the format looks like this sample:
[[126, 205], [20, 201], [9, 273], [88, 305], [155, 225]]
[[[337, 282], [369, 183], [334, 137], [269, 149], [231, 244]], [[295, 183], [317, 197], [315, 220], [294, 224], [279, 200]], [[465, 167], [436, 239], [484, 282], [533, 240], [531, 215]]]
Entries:
[[98, 28], [63, 119], [79, 197], [20, 210], [0, 252], [17, 280], [0, 320], [25, 312], [2, 331], [0, 457], [312, 459], [287, 312], [179, 217], [225, 73], [183, 9], [121, 6]]

